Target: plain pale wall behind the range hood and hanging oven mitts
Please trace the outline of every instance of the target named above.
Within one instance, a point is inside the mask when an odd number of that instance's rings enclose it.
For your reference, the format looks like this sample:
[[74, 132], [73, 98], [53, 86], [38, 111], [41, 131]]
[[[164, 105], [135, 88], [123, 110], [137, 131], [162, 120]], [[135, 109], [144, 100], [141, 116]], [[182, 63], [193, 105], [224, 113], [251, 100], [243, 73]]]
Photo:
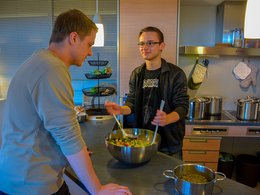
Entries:
[[[215, 45], [216, 29], [215, 6], [181, 6], [180, 11], [180, 39], [179, 45]], [[260, 57], [234, 56], [201, 56], [200, 61], [209, 59], [207, 76], [198, 90], [189, 90], [190, 97], [203, 95], [218, 95], [223, 97], [223, 109], [236, 110], [236, 102], [247, 95], [260, 97], [260, 73], [256, 87], [243, 89], [234, 77], [232, 70], [241, 60], [245, 60], [258, 67], [260, 71]], [[196, 56], [179, 56], [179, 66], [183, 68], [187, 77], [195, 63]]]

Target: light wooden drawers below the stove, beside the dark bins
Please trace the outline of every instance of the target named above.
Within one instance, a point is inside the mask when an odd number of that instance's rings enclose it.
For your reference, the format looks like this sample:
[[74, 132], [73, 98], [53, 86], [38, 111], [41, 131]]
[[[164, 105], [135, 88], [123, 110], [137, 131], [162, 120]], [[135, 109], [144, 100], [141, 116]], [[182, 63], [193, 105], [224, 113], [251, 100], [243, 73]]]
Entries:
[[183, 161], [205, 165], [217, 171], [221, 137], [185, 136]]

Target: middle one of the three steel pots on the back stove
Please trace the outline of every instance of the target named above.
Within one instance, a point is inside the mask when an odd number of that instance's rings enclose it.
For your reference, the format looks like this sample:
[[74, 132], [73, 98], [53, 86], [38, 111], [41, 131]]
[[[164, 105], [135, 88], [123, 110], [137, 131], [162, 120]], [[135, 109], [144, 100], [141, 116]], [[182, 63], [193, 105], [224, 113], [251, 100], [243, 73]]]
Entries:
[[206, 115], [221, 115], [222, 112], [222, 97], [219, 96], [205, 96], [206, 103]]

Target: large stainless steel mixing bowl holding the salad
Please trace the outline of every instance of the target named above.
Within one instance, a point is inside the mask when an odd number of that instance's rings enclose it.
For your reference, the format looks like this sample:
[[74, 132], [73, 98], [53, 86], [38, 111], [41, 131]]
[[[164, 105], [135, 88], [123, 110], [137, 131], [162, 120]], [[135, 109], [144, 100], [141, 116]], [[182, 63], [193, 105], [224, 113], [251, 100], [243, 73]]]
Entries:
[[[126, 133], [132, 134], [137, 139], [152, 142], [154, 132], [147, 129], [124, 129]], [[154, 144], [143, 146], [143, 147], [128, 147], [128, 146], [117, 146], [109, 142], [113, 138], [122, 138], [123, 134], [120, 130], [114, 130], [105, 137], [106, 147], [109, 153], [118, 161], [127, 164], [141, 164], [149, 161], [154, 154], [158, 151], [161, 137], [159, 134], [156, 135]]]

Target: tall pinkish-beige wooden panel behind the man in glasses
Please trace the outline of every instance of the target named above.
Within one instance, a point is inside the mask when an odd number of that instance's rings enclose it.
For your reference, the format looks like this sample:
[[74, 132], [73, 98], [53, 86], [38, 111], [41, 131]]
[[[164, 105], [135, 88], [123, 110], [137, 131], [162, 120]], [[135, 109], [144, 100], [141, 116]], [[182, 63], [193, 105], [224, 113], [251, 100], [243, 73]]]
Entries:
[[120, 0], [119, 3], [119, 85], [120, 97], [128, 92], [131, 71], [143, 62], [138, 34], [146, 26], [155, 26], [165, 36], [163, 58], [176, 64], [178, 0]]

